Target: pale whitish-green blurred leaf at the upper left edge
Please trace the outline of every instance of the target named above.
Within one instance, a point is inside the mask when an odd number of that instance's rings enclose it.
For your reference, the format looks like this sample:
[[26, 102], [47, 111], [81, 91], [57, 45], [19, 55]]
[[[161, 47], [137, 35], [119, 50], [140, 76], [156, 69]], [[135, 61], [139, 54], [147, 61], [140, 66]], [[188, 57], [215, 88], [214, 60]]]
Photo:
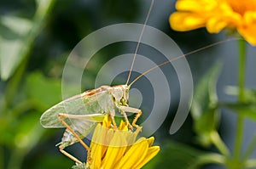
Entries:
[[11, 76], [24, 57], [26, 37], [32, 29], [30, 20], [15, 16], [0, 18], [0, 75]]

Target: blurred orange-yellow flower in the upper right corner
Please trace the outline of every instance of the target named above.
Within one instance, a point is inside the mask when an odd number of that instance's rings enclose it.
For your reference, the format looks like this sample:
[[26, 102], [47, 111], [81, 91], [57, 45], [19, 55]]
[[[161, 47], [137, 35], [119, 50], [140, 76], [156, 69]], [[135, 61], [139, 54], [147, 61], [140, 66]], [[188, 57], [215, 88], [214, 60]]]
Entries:
[[176, 8], [169, 19], [173, 30], [206, 27], [218, 33], [229, 28], [256, 45], [256, 0], [177, 0]]

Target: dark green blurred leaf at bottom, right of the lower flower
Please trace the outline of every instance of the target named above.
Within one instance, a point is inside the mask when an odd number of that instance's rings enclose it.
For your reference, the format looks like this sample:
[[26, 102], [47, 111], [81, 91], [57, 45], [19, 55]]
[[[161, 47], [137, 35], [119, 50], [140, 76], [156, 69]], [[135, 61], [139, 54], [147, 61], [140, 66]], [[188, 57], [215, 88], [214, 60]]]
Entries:
[[152, 161], [149, 161], [143, 169], [197, 169], [209, 163], [223, 164], [224, 157], [194, 149], [185, 144], [168, 141], [161, 147], [160, 153]]

